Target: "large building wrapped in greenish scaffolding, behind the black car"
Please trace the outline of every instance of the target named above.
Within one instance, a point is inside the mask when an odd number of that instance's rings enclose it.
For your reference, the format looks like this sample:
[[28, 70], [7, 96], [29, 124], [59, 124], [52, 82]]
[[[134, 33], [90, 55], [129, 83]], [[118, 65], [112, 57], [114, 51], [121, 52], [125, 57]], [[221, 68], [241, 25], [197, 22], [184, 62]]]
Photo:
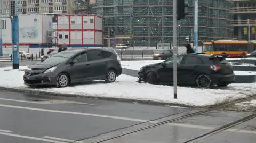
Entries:
[[[199, 40], [233, 37], [233, 27], [230, 27], [233, 16], [228, 0], [202, 0], [198, 3]], [[188, 0], [188, 4], [189, 15], [178, 24], [179, 45], [186, 42], [186, 37], [193, 37], [194, 0]], [[92, 3], [92, 12], [104, 18], [105, 46], [109, 31], [111, 46], [156, 47], [157, 43], [172, 43], [172, 1], [97, 0]]]

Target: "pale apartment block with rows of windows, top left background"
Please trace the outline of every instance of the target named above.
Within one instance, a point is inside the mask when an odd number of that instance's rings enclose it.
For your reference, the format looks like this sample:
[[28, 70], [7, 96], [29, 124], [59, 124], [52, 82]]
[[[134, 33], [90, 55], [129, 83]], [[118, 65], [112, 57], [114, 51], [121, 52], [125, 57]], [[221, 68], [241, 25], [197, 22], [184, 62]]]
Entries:
[[[9, 14], [10, 0], [3, 0], [2, 13]], [[69, 0], [19, 0], [19, 14], [56, 13], [68, 14], [72, 12]]]

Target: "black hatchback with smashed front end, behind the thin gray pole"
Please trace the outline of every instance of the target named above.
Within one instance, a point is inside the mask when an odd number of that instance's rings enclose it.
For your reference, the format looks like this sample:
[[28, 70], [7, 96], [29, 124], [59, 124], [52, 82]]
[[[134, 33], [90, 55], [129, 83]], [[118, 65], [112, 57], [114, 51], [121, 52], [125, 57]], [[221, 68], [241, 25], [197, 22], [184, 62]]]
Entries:
[[[179, 85], [210, 88], [227, 86], [235, 81], [233, 68], [225, 57], [206, 54], [182, 54], [177, 56], [177, 80]], [[173, 84], [173, 57], [164, 62], [143, 66], [138, 82]]]

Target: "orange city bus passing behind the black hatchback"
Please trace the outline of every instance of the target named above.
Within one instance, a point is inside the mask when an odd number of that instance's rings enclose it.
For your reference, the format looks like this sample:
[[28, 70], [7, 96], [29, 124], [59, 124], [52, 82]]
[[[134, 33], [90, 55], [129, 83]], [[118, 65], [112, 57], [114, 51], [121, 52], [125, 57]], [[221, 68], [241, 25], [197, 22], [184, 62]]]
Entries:
[[209, 55], [222, 55], [227, 57], [246, 57], [249, 42], [238, 40], [218, 40], [203, 43], [202, 52]]

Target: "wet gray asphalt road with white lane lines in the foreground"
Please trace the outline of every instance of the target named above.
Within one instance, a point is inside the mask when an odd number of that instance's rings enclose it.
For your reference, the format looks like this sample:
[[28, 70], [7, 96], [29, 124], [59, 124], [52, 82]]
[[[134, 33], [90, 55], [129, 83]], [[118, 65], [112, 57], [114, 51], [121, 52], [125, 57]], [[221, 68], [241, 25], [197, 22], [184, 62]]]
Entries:
[[[82, 143], [87, 142], [85, 138], [101, 133], [167, 115], [173, 118], [196, 111], [200, 110], [0, 91], [0, 142], [81, 140]], [[249, 114], [251, 112], [211, 111], [105, 142], [183, 142]], [[207, 139], [253, 143], [256, 139], [255, 127], [254, 119]]]

